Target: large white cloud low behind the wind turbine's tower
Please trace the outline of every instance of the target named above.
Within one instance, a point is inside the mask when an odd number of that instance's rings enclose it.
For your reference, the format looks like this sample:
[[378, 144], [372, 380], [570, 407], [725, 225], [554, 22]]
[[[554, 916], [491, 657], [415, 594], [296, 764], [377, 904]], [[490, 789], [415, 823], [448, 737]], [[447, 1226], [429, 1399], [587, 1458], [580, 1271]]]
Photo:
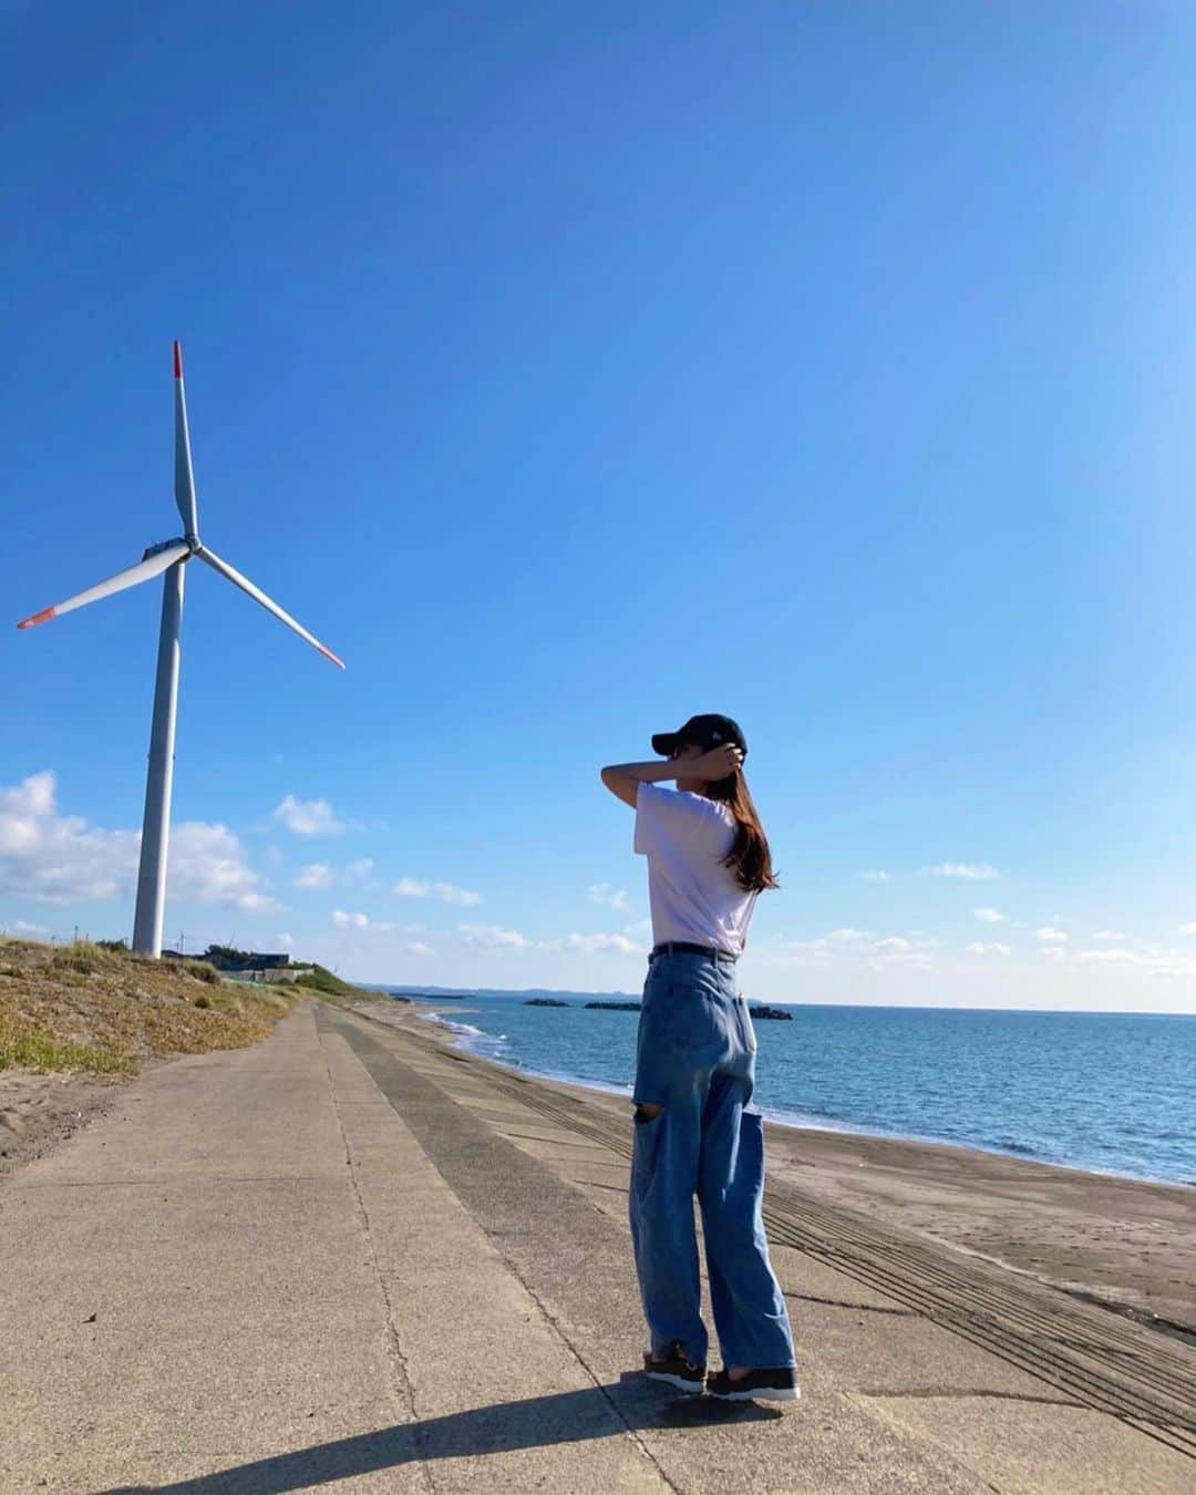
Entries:
[[[0, 891], [42, 903], [97, 903], [129, 897], [138, 878], [139, 831], [90, 827], [60, 815], [57, 780], [36, 773], [0, 789]], [[170, 831], [167, 896], [262, 913], [281, 904], [226, 825], [182, 821]]]

